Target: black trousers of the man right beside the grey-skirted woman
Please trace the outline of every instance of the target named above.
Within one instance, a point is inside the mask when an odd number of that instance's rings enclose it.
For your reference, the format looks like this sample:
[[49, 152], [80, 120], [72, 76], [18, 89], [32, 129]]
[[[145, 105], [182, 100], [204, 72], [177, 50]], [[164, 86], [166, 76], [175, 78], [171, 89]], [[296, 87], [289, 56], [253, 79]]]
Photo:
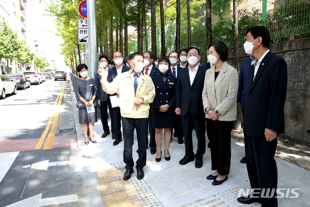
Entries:
[[101, 101], [100, 102], [100, 113], [101, 113], [101, 123], [104, 132], [109, 131], [109, 125], [108, 125], [108, 107], [110, 112], [110, 118], [111, 118], [111, 132], [114, 133], [114, 117], [113, 117], [113, 108], [111, 106], [110, 98], [108, 97], [107, 101]]

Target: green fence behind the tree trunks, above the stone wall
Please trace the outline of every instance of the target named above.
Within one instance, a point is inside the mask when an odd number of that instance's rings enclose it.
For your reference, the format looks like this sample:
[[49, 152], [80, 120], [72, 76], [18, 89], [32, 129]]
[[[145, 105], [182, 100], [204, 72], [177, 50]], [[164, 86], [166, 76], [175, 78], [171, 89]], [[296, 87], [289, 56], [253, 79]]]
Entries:
[[[202, 53], [207, 50], [205, 15], [205, 4], [197, 7], [191, 14], [191, 46], [199, 47]], [[172, 21], [165, 26], [167, 53], [175, 50], [175, 24]], [[309, 36], [310, 0], [238, 0], [239, 47], [245, 42], [247, 29], [255, 25], [266, 26], [272, 42]], [[230, 49], [233, 48], [232, 0], [212, 0], [212, 41], [218, 40], [225, 42]], [[150, 49], [150, 35], [148, 43]], [[180, 48], [187, 48], [186, 16], [181, 17]], [[128, 51], [137, 51], [137, 42], [128, 46]], [[160, 29], [157, 30], [157, 53], [159, 57]]]

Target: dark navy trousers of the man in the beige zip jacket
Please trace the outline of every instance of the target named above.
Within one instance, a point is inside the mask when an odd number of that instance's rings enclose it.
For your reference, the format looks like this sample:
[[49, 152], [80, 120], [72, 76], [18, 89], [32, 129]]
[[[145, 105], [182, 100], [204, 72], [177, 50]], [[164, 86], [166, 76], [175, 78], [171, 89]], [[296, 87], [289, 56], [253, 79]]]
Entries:
[[132, 143], [134, 142], [134, 130], [137, 131], [138, 155], [136, 168], [142, 168], [146, 165], [146, 148], [148, 143], [147, 135], [147, 118], [134, 119], [122, 117], [123, 134], [124, 134], [124, 162], [126, 170], [130, 170], [134, 166], [132, 158]]

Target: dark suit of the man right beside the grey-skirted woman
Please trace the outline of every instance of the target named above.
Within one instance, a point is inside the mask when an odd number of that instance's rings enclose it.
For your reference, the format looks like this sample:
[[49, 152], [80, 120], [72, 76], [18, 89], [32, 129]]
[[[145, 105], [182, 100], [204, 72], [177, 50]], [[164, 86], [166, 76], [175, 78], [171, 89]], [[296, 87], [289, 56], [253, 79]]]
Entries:
[[109, 132], [109, 125], [108, 125], [108, 106], [109, 106], [109, 112], [110, 112], [110, 117], [111, 117], [111, 132], [112, 134], [114, 134], [114, 117], [113, 117], [113, 110], [112, 110], [111, 102], [110, 102], [108, 94], [103, 91], [100, 80], [101, 80], [101, 76], [98, 74], [98, 72], [95, 73], [95, 81], [98, 87], [96, 99], [100, 100], [100, 113], [101, 113], [102, 127], [103, 127], [104, 132]]

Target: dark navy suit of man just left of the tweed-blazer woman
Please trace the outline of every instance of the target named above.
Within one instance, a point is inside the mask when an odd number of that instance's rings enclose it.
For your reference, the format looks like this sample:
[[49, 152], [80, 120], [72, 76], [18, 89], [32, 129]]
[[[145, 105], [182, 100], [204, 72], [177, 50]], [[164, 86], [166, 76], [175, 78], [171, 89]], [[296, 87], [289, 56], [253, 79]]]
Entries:
[[194, 126], [198, 147], [196, 160], [202, 160], [205, 153], [205, 114], [202, 104], [202, 90], [206, 69], [198, 67], [193, 84], [190, 85], [188, 67], [179, 71], [175, 93], [175, 108], [181, 109], [181, 123], [185, 139], [186, 156], [194, 156], [192, 127]]

